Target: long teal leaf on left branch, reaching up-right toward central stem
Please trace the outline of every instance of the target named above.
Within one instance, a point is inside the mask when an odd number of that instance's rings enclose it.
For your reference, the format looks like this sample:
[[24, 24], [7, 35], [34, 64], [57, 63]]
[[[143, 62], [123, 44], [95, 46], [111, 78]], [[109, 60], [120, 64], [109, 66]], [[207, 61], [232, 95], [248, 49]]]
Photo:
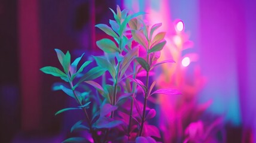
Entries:
[[106, 69], [103, 69], [102, 67], [94, 67], [91, 70], [89, 70], [87, 73], [84, 74], [84, 76], [81, 77], [81, 79], [76, 83], [74, 88], [76, 88], [80, 83], [88, 80], [96, 79], [97, 77], [100, 77]]

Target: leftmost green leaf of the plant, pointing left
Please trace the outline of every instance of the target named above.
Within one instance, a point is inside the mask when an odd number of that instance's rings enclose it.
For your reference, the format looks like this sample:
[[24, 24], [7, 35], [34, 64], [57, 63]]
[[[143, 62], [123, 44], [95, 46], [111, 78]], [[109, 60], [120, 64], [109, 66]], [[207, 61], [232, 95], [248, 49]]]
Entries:
[[67, 74], [63, 73], [57, 67], [47, 66], [47, 67], [42, 67], [40, 70], [43, 71], [44, 73], [52, 74], [53, 76], [57, 76], [57, 77], [61, 77], [61, 79], [65, 80], [67, 82]]

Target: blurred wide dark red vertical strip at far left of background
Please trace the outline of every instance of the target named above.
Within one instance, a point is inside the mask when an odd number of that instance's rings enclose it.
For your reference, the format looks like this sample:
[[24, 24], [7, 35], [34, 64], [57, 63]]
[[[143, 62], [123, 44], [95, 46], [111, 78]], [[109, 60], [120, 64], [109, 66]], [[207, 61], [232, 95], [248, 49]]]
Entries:
[[38, 129], [40, 103], [39, 0], [18, 1], [18, 45], [20, 58], [21, 128]]

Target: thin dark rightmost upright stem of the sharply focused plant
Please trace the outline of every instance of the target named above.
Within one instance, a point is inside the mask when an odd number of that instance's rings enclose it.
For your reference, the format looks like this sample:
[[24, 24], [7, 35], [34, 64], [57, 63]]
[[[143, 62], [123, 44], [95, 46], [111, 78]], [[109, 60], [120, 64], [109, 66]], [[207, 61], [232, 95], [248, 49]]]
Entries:
[[[149, 52], [148, 51], [147, 51], [147, 63], [149, 63]], [[149, 71], [147, 71], [147, 76], [146, 76], [146, 88], [147, 88], [147, 92], [145, 93], [145, 97], [144, 97], [143, 114], [142, 114], [141, 125], [140, 125], [140, 133], [138, 136], [142, 135], [143, 126], [144, 126], [144, 122], [145, 122], [144, 120], [145, 120], [145, 116], [146, 116], [147, 95], [149, 93]]]

